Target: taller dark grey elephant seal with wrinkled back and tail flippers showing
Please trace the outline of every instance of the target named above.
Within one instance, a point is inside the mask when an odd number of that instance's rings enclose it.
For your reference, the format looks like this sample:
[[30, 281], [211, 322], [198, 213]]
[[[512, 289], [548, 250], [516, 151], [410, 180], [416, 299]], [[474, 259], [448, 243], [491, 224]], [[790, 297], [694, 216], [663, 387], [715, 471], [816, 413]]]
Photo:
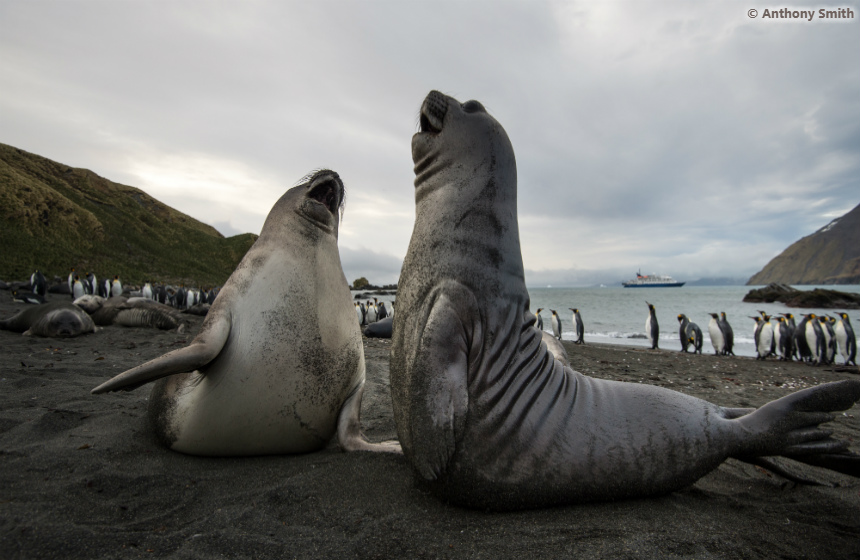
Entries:
[[728, 457], [836, 454], [856, 469], [817, 426], [860, 398], [860, 381], [727, 409], [556, 361], [528, 312], [505, 131], [480, 103], [438, 92], [420, 122], [390, 374], [403, 452], [434, 493], [518, 509], [663, 494]]

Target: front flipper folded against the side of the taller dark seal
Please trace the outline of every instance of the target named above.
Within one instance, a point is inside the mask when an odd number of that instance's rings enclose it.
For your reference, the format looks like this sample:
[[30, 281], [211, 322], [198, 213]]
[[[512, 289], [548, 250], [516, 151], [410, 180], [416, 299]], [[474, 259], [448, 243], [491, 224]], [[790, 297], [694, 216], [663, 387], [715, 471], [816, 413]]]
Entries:
[[482, 338], [472, 293], [446, 288], [437, 291], [412, 366], [412, 464], [426, 480], [444, 474], [456, 451], [469, 402], [469, 341]]

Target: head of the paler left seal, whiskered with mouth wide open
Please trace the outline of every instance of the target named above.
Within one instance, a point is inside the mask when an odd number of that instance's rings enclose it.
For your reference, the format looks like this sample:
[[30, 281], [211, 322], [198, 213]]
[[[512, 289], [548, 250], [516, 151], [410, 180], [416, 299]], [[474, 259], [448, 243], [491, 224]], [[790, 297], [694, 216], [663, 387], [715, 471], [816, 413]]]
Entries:
[[290, 228], [286, 222], [293, 220], [287, 219], [287, 216], [293, 214], [305, 226], [302, 229], [306, 235], [314, 236], [322, 232], [337, 238], [344, 193], [343, 181], [337, 173], [329, 169], [314, 171], [278, 199], [266, 218], [260, 236], [267, 230]]

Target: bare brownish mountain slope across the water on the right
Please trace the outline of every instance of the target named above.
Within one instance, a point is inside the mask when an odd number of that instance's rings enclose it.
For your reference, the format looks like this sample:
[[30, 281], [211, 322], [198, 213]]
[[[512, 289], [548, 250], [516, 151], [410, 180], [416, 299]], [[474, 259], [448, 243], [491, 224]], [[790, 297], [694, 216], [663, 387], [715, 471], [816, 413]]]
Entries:
[[796, 241], [748, 285], [860, 284], [860, 205]]

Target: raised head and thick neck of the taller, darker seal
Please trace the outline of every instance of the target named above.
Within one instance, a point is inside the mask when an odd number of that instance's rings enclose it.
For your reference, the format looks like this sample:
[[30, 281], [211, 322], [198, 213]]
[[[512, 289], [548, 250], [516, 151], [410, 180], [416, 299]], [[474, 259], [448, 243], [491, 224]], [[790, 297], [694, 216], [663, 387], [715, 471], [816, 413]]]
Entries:
[[414, 273], [429, 287], [433, 278], [469, 278], [489, 290], [502, 272], [524, 292], [516, 160], [504, 128], [481, 103], [438, 91], [421, 104], [419, 126], [415, 228], [401, 279]]

